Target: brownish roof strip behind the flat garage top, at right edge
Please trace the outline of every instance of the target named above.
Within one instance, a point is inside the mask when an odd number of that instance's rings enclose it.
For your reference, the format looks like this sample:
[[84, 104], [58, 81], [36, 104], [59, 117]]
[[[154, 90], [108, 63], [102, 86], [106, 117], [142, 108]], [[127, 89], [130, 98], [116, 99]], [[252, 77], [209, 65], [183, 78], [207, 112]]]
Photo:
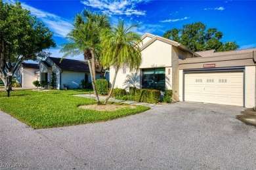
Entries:
[[202, 57], [215, 57], [215, 56], [227, 56], [227, 55], [236, 55], [236, 54], [244, 54], [256, 51], [256, 48], [249, 48], [244, 50], [233, 50], [228, 52], [215, 52], [215, 50], [207, 50], [202, 52], [196, 52]]

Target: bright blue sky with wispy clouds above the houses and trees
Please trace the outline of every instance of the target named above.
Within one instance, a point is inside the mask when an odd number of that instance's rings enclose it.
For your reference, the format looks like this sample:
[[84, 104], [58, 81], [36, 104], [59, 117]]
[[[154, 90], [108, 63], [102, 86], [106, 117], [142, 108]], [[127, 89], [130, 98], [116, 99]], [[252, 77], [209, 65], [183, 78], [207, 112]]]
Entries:
[[[3, 0], [15, 3], [14, 0]], [[222, 42], [235, 41], [239, 49], [256, 48], [256, 0], [20, 0], [24, 9], [41, 20], [51, 31], [56, 48], [48, 49], [52, 57], [61, 58], [61, 44], [72, 29], [75, 15], [85, 9], [108, 14], [110, 23], [139, 23], [134, 31], [163, 36], [173, 28], [202, 22], [223, 32]], [[83, 60], [83, 56], [70, 59]]]

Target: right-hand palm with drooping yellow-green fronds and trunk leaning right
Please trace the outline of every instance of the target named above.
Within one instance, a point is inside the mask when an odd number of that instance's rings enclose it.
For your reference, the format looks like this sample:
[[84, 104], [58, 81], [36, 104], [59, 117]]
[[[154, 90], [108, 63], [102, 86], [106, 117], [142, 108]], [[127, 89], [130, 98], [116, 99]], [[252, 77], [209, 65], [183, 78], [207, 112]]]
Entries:
[[100, 56], [100, 61], [104, 67], [112, 66], [115, 69], [112, 87], [104, 105], [106, 105], [113, 92], [117, 72], [126, 68], [129, 68], [130, 71], [139, 69], [141, 63], [139, 44], [141, 40], [140, 35], [132, 31], [134, 27], [138, 27], [138, 24], [125, 27], [124, 21], [121, 20], [116, 27], [102, 31], [102, 55]]

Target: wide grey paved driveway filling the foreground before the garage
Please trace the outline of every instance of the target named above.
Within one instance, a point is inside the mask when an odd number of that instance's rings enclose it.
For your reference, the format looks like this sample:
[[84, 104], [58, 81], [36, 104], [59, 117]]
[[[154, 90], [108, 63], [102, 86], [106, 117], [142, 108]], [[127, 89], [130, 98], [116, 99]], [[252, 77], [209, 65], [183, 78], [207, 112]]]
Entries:
[[255, 169], [256, 128], [236, 120], [242, 110], [180, 102], [38, 130], [0, 112], [0, 169]]

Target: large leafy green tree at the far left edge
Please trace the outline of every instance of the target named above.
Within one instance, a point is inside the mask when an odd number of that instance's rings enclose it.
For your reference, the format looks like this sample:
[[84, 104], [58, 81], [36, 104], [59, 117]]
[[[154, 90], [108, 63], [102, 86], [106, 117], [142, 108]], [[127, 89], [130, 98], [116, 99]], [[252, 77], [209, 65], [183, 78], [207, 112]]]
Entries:
[[26, 60], [37, 61], [49, 56], [43, 50], [56, 46], [53, 33], [42, 22], [30, 16], [21, 4], [0, 0], [0, 78], [7, 88], [7, 73], [16, 73]]

